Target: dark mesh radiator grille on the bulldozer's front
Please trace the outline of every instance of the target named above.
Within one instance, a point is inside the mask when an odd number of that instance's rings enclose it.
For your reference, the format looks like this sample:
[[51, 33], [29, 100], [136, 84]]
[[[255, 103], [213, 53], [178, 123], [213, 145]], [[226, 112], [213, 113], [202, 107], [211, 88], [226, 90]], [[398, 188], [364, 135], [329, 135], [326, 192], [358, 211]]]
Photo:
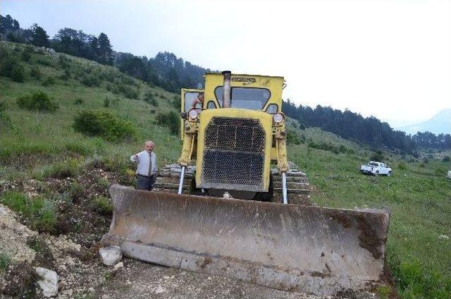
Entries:
[[204, 142], [204, 188], [263, 188], [265, 132], [258, 119], [215, 117]]

